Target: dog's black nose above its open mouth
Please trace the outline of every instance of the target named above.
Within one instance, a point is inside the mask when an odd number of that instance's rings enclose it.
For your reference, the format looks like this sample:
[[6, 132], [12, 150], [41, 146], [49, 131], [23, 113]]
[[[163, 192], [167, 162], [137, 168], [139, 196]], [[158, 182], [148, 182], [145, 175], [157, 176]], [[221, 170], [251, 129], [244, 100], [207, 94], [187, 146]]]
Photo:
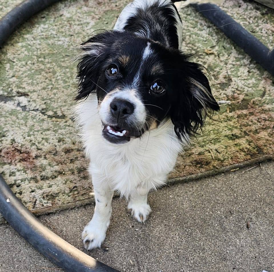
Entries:
[[114, 98], [110, 103], [110, 111], [117, 120], [126, 118], [134, 111], [134, 106], [126, 100]]

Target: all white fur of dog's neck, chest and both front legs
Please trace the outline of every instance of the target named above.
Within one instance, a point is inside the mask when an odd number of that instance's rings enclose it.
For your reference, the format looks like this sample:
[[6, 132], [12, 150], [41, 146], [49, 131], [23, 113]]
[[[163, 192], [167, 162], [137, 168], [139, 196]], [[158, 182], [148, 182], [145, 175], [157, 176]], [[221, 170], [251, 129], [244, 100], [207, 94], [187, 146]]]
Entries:
[[150, 213], [147, 194], [165, 183], [172, 171], [178, 152], [189, 139], [180, 143], [170, 120], [147, 131], [141, 138], [132, 138], [126, 144], [112, 144], [102, 136], [97, 97], [75, 107], [74, 116], [92, 175], [96, 210], [84, 228], [82, 240], [86, 249], [100, 247], [106, 236], [111, 215], [113, 191], [130, 198], [128, 209], [139, 222]]

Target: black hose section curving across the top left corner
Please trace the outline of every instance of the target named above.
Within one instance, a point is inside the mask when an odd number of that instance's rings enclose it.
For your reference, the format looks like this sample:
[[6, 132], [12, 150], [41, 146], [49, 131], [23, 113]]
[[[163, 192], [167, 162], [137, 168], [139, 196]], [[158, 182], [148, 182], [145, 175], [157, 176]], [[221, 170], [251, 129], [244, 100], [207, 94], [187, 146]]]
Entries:
[[0, 47], [20, 24], [46, 7], [59, 1], [60, 0], [26, 0], [16, 6], [0, 21]]

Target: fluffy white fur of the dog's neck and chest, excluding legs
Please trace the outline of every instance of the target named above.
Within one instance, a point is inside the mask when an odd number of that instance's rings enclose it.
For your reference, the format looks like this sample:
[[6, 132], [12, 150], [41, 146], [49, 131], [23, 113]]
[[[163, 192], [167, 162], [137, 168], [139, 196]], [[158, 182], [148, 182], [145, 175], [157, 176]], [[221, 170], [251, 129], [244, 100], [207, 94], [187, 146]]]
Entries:
[[[137, 186], [150, 190], [164, 184], [182, 149], [170, 120], [145, 132], [141, 138], [126, 144], [112, 144], [102, 136], [96, 95], [79, 103], [75, 115], [91, 174], [93, 169], [100, 171], [102, 177], [110, 180], [112, 189], [126, 197]], [[187, 142], [188, 139], [185, 144]]]

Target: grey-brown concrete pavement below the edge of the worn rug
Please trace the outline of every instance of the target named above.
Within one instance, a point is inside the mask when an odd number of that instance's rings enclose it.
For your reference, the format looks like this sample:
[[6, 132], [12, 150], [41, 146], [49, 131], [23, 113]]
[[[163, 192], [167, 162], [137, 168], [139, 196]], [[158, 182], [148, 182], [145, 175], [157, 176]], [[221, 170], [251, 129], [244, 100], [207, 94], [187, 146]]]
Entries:
[[[120, 271], [274, 271], [274, 161], [165, 187], [149, 196], [152, 213], [132, 220], [113, 200], [103, 248], [88, 252]], [[93, 205], [40, 216], [83, 250]], [[0, 271], [62, 271], [9, 225], [0, 225]]]

